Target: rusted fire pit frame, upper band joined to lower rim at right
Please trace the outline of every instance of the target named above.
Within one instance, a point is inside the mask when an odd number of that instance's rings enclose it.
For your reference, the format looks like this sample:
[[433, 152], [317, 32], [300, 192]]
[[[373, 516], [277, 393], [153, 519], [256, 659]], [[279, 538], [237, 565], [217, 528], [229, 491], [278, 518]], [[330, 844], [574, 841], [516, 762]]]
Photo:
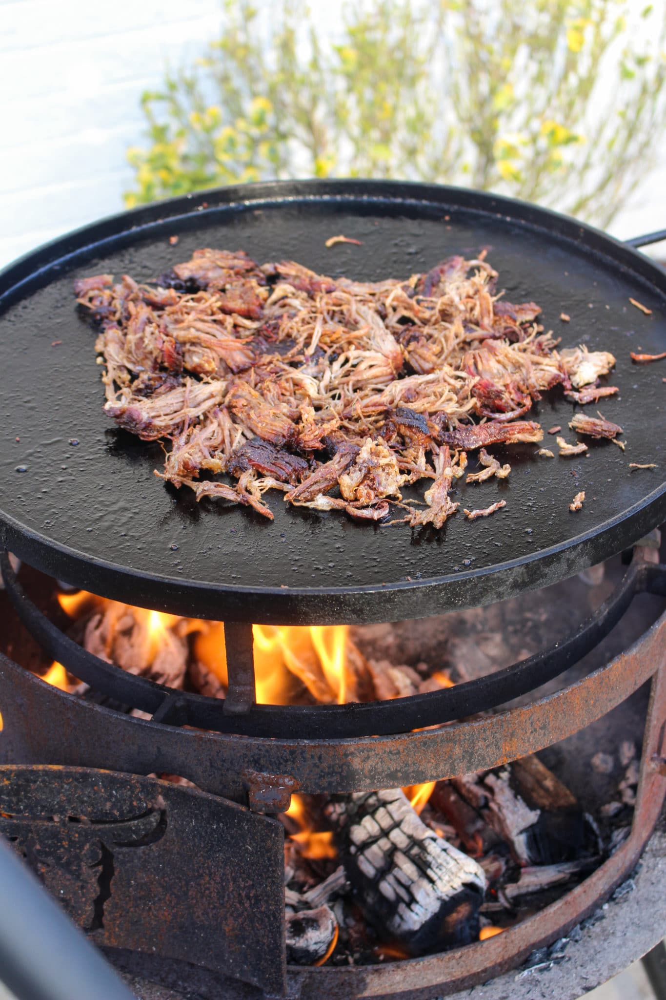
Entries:
[[[321, 773], [325, 780], [331, 778], [335, 754], [340, 750], [342, 755], [346, 753], [344, 767], [348, 781], [335, 790], [389, 787], [435, 775], [449, 777], [485, 769], [541, 749], [604, 715], [650, 677], [652, 688], [631, 834], [592, 875], [540, 913], [487, 941], [441, 955], [382, 966], [291, 967], [287, 990], [282, 994], [294, 1000], [319, 1000], [322, 996], [332, 1000], [361, 997], [430, 1000], [485, 982], [519, 965], [534, 948], [556, 940], [591, 913], [632, 871], [656, 823], [666, 792], [666, 613], [625, 653], [531, 706], [444, 727], [439, 732], [400, 737], [402, 756], [409, 753], [414, 757], [414, 767], [408, 774], [388, 775], [377, 769], [377, 755], [390, 753], [393, 742], [383, 737], [353, 741], [359, 749], [351, 760], [349, 741], [286, 744], [285, 741], [255, 741], [178, 730], [86, 703], [47, 685], [5, 657], [0, 657], [0, 708], [11, 703], [12, 711], [5, 714], [0, 746], [3, 759], [15, 763], [48, 761], [49, 764], [111, 767], [130, 774], [171, 771], [190, 777], [208, 791], [225, 795], [229, 783], [221, 772], [236, 773], [244, 763], [265, 762], [269, 744], [275, 743], [284, 755], [285, 764], [298, 765], [303, 760], [300, 757], [303, 753], [311, 764], [314, 761], [310, 783], [305, 786], [296, 783], [292, 789], [324, 790], [322, 782], [316, 781], [316, 775]], [[36, 712], [46, 714], [35, 716]], [[82, 713], [88, 713], [90, 722], [91, 712], [95, 713], [95, 725], [78, 725], [84, 722]], [[32, 719], [47, 715], [50, 716], [49, 727], [32, 725]], [[434, 770], [428, 773], [414, 770], [422, 764], [422, 741], [439, 752], [436, 758], [429, 759], [429, 766]], [[230, 745], [234, 746], [236, 756], [226, 752]], [[247, 756], [248, 750], [251, 757]], [[258, 755], [252, 757], [253, 753]], [[439, 762], [438, 767], [435, 759]], [[355, 773], [352, 773], [353, 768]], [[299, 772], [298, 766], [291, 769]], [[340, 774], [343, 773], [341, 770]], [[255, 780], [258, 777], [255, 775]], [[217, 970], [218, 980], [219, 972]], [[247, 986], [228, 980], [224, 985], [228, 986], [226, 995], [230, 998], [247, 1000], [253, 996], [248, 993]], [[259, 993], [254, 995], [260, 996]]]

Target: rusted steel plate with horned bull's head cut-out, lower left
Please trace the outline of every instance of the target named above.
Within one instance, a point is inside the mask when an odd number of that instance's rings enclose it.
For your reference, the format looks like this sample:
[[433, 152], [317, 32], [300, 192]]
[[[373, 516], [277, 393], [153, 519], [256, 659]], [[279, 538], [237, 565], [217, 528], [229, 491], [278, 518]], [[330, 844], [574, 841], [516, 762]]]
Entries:
[[165, 781], [35, 766], [0, 767], [0, 813], [0, 833], [96, 944], [284, 995], [277, 820]]

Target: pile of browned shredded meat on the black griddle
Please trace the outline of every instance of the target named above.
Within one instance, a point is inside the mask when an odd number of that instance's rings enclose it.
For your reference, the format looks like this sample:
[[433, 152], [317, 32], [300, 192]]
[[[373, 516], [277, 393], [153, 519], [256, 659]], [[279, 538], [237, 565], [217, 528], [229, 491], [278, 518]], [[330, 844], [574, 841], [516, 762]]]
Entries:
[[[267, 517], [264, 494], [278, 490], [367, 520], [396, 505], [439, 528], [466, 450], [540, 441], [520, 419], [533, 402], [590, 386], [615, 360], [560, 354], [539, 307], [505, 302], [496, 281], [484, 254], [359, 282], [203, 249], [150, 284], [102, 274], [74, 288], [99, 324], [106, 411], [171, 442], [163, 479]], [[422, 478], [425, 506], [402, 502]]]

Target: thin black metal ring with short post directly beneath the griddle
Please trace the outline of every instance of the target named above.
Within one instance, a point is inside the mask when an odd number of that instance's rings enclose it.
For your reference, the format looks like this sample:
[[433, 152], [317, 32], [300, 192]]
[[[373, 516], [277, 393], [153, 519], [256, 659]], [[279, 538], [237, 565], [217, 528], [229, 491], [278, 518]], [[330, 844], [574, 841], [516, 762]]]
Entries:
[[[634, 562], [614, 593], [573, 635], [504, 670], [441, 691], [391, 701], [315, 706], [249, 704], [242, 712], [231, 712], [231, 696], [221, 699], [176, 691], [129, 674], [89, 653], [58, 629], [30, 600], [18, 583], [6, 553], [0, 553], [0, 573], [7, 594], [30, 633], [49, 656], [96, 691], [149, 712], [155, 722], [288, 740], [294, 736], [300, 740], [395, 736], [497, 708], [553, 680], [585, 656], [617, 624], [636, 594], [648, 592], [666, 596], [666, 566]], [[235, 624], [233, 628], [238, 630], [239, 626]], [[236, 631], [227, 645], [230, 691], [236, 682], [237, 691], [247, 691], [251, 686], [254, 692], [252, 673], [250, 681], [243, 674], [248, 667], [247, 659], [229, 655], [230, 651], [239, 648]]]

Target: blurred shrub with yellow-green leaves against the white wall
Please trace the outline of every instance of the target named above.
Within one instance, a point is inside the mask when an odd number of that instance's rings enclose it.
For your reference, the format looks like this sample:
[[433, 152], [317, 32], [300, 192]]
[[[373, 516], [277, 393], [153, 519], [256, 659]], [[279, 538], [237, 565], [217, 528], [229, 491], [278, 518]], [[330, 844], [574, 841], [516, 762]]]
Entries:
[[143, 95], [126, 204], [239, 181], [463, 184], [607, 225], [666, 122], [666, 8], [635, 0], [357, 0], [335, 44], [301, 0], [225, 6]]

